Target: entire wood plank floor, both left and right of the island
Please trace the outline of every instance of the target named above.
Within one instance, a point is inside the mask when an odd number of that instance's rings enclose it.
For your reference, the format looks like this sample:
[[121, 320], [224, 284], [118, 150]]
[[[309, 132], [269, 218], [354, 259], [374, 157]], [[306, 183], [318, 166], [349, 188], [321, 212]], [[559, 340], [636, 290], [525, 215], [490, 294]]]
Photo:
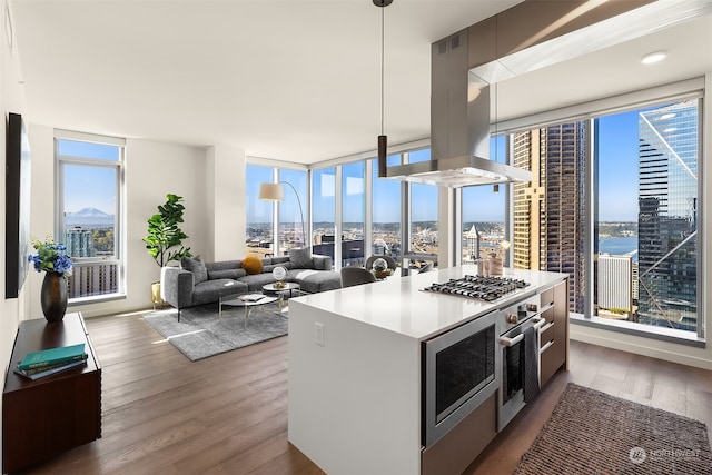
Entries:
[[[288, 337], [190, 363], [140, 316], [87, 326], [103, 367], [103, 436], [27, 473], [323, 473], [287, 442]], [[512, 473], [568, 382], [712, 427], [712, 372], [572, 342], [571, 370], [465, 473]]]

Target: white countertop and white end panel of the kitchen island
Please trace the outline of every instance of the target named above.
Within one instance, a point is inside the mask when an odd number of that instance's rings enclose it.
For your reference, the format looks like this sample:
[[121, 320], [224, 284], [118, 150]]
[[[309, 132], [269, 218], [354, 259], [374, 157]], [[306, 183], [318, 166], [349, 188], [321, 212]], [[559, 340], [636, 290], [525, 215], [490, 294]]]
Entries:
[[289, 442], [329, 474], [419, 474], [421, 343], [566, 278], [505, 269], [531, 285], [495, 304], [422, 291], [476, 274], [462, 266], [290, 299]]

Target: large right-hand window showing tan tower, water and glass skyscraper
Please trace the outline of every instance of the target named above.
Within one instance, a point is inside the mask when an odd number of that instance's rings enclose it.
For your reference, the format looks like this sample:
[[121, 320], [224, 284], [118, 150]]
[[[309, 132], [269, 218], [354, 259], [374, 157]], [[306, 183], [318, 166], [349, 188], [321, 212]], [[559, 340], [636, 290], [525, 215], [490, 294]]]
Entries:
[[513, 261], [568, 274], [585, 318], [703, 336], [700, 99], [651, 103], [513, 133]]

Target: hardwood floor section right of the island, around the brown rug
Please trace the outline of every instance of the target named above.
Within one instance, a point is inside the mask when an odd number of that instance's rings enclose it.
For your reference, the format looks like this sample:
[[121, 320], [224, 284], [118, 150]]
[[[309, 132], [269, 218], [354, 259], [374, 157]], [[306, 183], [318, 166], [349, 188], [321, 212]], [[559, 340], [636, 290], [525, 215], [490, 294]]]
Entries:
[[465, 474], [513, 473], [568, 383], [702, 420], [712, 441], [712, 372], [573, 340], [570, 358]]

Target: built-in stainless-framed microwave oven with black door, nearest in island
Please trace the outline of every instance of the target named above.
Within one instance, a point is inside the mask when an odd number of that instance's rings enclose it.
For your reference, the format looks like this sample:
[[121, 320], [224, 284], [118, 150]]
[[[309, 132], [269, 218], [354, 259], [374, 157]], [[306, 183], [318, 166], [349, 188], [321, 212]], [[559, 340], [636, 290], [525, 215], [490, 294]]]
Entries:
[[500, 387], [500, 313], [423, 343], [423, 434], [432, 446]]

